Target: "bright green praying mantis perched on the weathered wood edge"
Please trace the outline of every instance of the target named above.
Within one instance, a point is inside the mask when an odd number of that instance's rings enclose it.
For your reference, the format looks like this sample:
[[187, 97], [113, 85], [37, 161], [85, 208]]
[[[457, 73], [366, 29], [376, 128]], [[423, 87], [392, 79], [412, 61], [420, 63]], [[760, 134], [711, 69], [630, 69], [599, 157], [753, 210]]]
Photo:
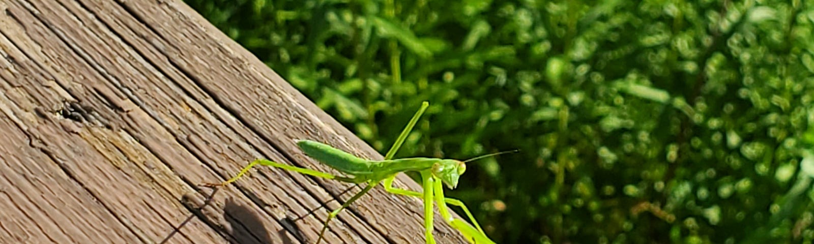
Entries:
[[[234, 176], [228, 181], [223, 181], [220, 184], [209, 183], [204, 185], [210, 187], [228, 185], [234, 181], [237, 181], [241, 176], [246, 174], [257, 164], [283, 168], [309, 176], [317, 176], [353, 184], [367, 183], [365, 188], [359, 193], [353, 195], [350, 199], [348, 199], [348, 201], [343, 203], [341, 207], [330, 212], [330, 215], [328, 215], [328, 218], [325, 220], [325, 224], [322, 226], [322, 230], [319, 233], [319, 238], [317, 239], [317, 244], [319, 244], [322, 241], [322, 237], [325, 234], [325, 230], [328, 228], [328, 223], [331, 219], [339, 215], [340, 211], [342, 211], [345, 207], [348, 207], [351, 203], [356, 201], [362, 195], [366, 194], [368, 191], [372, 190], [376, 185], [379, 185], [379, 182], [382, 182], [384, 190], [387, 190], [389, 193], [422, 198], [424, 202], [424, 235], [427, 243], [435, 243], [435, 238], [432, 236], [433, 201], [438, 204], [438, 209], [441, 216], [444, 218], [444, 221], [449, 223], [454, 229], [461, 232], [468, 242], [477, 244], [495, 243], [486, 236], [484, 230], [480, 228], [478, 222], [475, 220], [475, 217], [472, 216], [469, 209], [466, 208], [466, 205], [464, 205], [463, 202], [454, 198], [444, 197], [443, 185], [447, 185], [449, 189], [455, 189], [458, 183], [458, 178], [461, 176], [461, 174], [463, 174], [463, 172], [466, 171], [466, 162], [482, 159], [488, 156], [514, 152], [516, 150], [482, 155], [466, 161], [431, 158], [392, 159], [393, 155], [396, 154], [396, 151], [399, 150], [401, 144], [405, 142], [407, 135], [413, 129], [416, 122], [418, 122], [418, 118], [421, 117], [424, 111], [427, 110], [429, 105], [429, 102], [422, 102], [421, 108], [418, 109], [415, 115], [413, 115], [413, 118], [409, 120], [407, 127], [405, 127], [405, 129], [401, 132], [390, 150], [387, 151], [387, 155], [384, 156], [384, 160], [376, 161], [360, 159], [357, 156], [351, 155], [343, 150], [336, 149], [320, 142], [313, 142], [309, 140], [297, 141], [297, 146], [303, 150], [305, 155], [308, 155], [313, 159], [317, 159], [317, 161], [320, 163], [324, 163], [330, 166], [330, 168], [335, 168], [339, 172], [343, 172], [348, 176], [335, 176], [330, 173], [318, 172], [308, 168], [299, 168], [287, 164], [275, 163], [267, 159], [256, 159], [243, 168], [237, 176]], [[399, 172], [408, 171], [415, 171], [421, 175], [423, 186], [422, 192], [401, 190], [392, 187], [392, 183], [396, 179], [396, 174]], [[453, 218], [453, 216], [449, 213], [446, 204], [461, 207], [475, 227], [472, 227], [472, 225], [466, 223], [464, 220]]]

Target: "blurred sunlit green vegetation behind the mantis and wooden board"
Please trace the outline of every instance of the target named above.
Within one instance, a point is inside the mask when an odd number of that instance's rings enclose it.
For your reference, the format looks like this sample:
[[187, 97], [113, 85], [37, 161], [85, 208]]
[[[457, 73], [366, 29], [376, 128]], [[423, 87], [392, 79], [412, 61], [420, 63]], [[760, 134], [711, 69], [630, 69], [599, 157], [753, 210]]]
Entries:
[[[501, 243], [814, 239], [809, 1], [188, 0]], [[499, 162], [499, 163], [498, 163]]]

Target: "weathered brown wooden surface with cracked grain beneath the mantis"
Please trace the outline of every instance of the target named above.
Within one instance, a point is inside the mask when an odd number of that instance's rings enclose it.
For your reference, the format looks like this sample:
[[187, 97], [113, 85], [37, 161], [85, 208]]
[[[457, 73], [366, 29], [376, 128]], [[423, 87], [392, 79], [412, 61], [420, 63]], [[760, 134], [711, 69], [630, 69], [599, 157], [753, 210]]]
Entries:
[[[381, 158], [177, 0], [0, 0], [0, 54], [0, 243], [313, 243], [358, 187], [276, 168], [208, 202], [198, 185], [256, 158], [329, 171], [298, 138]], [[326, 241], [422, 243], [420, 204], [377, 187]]]

